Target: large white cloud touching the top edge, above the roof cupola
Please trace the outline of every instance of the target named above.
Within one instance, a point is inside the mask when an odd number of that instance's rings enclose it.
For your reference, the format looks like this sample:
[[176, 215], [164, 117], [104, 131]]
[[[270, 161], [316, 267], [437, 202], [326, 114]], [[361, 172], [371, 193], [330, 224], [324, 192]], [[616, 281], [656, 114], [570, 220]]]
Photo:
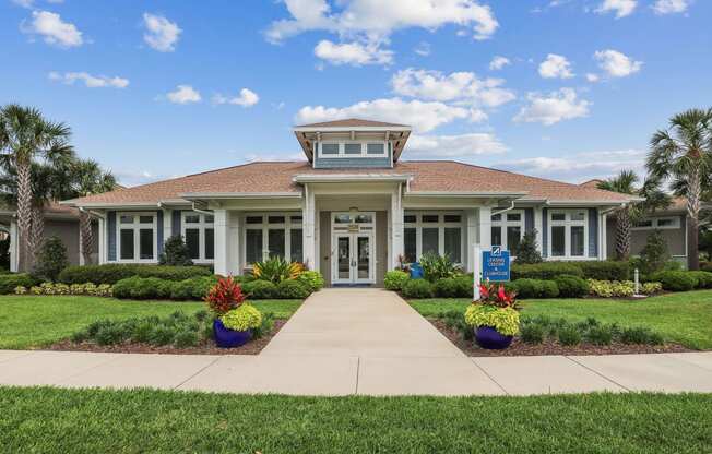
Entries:
[[327, 31], [341, 36], [383, 39], [408, 27], [436, 29], [455, 24], [473, 31], [475, 39], [491, 37], [499, 24], [491, 9], [475, 0], [340, 0], [332, 10], [327, 0], [284, 0], [290, 19], [273, 22], [265, 36], [282, 41], [307, 31]]

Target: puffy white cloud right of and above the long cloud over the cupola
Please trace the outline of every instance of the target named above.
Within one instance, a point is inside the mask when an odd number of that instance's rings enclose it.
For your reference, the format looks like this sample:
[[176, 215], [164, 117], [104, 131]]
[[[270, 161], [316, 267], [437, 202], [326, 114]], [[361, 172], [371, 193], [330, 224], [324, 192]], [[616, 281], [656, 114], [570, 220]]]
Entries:
[[393, 91], [399, 95], [429, 100], [466, 100], [477, 106], [497, 107], [515, 98], [513, 92], [502, 88], [501, 79], [478, 79], [473, 72], [427, 71], [408, 68], [391, 79]]

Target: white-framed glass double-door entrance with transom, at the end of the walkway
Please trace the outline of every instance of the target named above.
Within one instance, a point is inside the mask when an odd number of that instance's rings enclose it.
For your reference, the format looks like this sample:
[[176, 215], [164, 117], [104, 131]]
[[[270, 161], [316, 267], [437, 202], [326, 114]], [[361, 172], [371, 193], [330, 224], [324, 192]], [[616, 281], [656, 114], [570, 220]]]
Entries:
[[373, 284], [376, 213], [333, 213], [332, 284]]

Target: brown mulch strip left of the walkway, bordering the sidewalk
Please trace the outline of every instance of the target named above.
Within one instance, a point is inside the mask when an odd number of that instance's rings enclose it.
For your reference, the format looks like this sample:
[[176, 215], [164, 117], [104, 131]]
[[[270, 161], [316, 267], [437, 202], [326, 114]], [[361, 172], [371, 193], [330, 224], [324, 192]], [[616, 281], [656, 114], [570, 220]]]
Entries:
[[272, 340], [286, 320], [275, 320], [274, 327], [270, 334], [259, 339], [248, 342], [237, 348], [218, 348], [212, 340], [204, 342], [197, 347], [176, 348], [171, 345], [153, 346], [147, 344], [119, 344], [119, 345], [96, 345], [90, 342], [75, 344], [70, 339], [60, 340], [47, 347], [49, 350], [59, 351], [103, 351], [111, 354], [163, 354], [163, 355], [259, 355], [260, 351]]

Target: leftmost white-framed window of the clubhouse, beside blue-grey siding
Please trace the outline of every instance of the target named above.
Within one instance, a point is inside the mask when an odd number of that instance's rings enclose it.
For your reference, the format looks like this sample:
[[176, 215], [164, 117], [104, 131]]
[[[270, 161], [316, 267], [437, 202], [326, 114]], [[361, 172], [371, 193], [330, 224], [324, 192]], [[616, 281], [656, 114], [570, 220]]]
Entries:
[[157, 243], [156, 215], [154, 213], [119, 213], [118, 218], [118, 260], [154, 262]]

